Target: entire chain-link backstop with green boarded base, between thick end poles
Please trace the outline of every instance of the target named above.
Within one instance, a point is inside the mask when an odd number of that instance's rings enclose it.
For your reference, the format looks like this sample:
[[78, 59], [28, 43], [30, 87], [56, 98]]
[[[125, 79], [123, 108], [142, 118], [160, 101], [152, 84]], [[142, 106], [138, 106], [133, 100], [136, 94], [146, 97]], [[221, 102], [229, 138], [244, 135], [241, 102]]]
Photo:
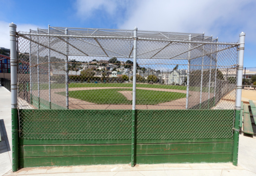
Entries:
[[231, 162], [239, 45], [204, 33], [18, 32], [19, 166]]

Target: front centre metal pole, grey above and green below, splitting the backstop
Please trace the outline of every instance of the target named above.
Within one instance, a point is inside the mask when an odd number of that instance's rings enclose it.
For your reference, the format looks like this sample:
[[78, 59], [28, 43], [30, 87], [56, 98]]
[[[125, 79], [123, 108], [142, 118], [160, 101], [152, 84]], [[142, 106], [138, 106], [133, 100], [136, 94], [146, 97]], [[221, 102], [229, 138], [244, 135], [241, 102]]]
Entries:
[[135, 118], [136, 118], [136, 64], [137, 64], [137, 28], [134, 28], [133, 40], [133, 79], [132, 79], [132, 138], [131, 138], [131, 166], [135, 160]]

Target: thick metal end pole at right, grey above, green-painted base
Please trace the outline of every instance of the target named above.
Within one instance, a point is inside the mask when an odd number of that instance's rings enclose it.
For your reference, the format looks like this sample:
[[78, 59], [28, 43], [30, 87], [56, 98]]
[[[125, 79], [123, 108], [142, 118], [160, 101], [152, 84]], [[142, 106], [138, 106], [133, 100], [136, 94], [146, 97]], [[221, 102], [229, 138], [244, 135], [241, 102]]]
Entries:
[[241, 113], [242, 99], [242, 82], [243, 82], [243, 67], [244, 67], [244, 44], [245, 33], [239, 35], [239, 56], [238, 56], [238, 80], [237, 80], [237, 98], [235, 100], [235, 119], [234, 119], [234, 145], [233, 145], [233, 165], [238, 165], [238, 144], [239, 144], [239, 124]]

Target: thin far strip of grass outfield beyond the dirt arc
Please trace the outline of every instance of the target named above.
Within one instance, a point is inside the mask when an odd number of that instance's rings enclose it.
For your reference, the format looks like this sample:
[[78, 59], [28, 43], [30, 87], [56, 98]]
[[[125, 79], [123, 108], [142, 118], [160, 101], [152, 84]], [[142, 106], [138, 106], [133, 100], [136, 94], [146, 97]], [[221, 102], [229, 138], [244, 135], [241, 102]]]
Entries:
[[[65, 88], [65, 83], [52, 83], [51, 89], [63, 89]], [[132, 87], [132, 83], [69, 83], [69, 88], [73, 87]], [[30, 86], [25, 85], [25, 89], [29, 90]], [[136, 83], [136, 87], [147, 87], [147, 88], [156, 88], [156, 89], [174, 89], [174, 90], [187, 90], [187, 86], [184, 85], [166, 85], [166, 84], [145, 84], [145, 83]], [[37, 83], [33, 83], [34, 91], [37, 90]], [[40, 90], [48, 90], [49, 85], [47, 83], [40, 83]], [[208, 92], [208, 87], [203, 87], [202, 92]], [[19, 91], [23, 91], [23, 84], [19, 85]], [[190, 86], [190, 91], [200, 92], [200, 87]], [[210, 87], [210, 93], [214, 92], [214, 87]]]

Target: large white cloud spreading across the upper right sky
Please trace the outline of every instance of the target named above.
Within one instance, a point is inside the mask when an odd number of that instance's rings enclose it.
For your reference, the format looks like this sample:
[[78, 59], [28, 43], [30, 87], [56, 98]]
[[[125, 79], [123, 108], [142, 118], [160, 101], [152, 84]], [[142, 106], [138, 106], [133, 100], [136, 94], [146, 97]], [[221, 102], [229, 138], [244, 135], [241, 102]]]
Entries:
[[237, 41], [244, 31], [247, 41], [255, 41], [254, 19], [256, 2], [253, 0], [142, 0], [119, 24], [121, 29], [159, 30], [203, 33], [220, 37], [221, 41]]

